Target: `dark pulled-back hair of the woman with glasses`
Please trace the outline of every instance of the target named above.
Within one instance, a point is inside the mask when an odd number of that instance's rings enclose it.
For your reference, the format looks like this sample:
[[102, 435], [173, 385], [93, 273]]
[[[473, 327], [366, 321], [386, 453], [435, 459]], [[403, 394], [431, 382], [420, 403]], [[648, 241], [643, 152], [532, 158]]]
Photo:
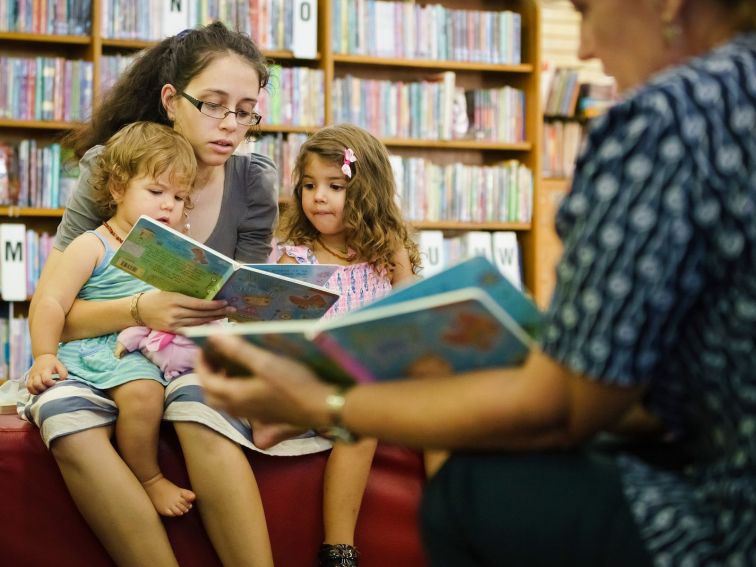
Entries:
[[94, 110], [92, 119], [68, 134], [63, 144], [81, 158], [126, 124], [146, 120], [172, 126], [160, 100], [163, 85], [170, 83], [183, 91], [212, 61], [228, 53], [249, 61], [260, 77], [260, 88], [268, 84], [267, 59], [248, 35], [231, 31], [221, 22], [184, 30], [140, 53]]

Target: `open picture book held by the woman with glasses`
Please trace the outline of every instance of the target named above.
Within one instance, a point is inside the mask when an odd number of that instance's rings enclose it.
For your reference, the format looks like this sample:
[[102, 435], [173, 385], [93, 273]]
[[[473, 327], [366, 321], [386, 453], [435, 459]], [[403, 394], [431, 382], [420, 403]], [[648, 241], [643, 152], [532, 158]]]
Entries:
[[[240, 264], [146, 216], [139, 217], [111, 264], [163, 291], [225, 299], [236, 308], [229, 315], [235, 321], [318, 319], [339, 298], [321, 285], [283, 275], [300, 266], [287, 272], [284, 264], [264, 269]], [[333, 274], [336, 268], [328, 269]]]

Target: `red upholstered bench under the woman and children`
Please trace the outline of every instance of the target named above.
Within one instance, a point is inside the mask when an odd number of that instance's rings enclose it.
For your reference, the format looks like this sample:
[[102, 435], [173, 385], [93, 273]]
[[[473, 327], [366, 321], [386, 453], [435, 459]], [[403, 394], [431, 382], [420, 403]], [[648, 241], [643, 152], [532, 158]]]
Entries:
[[[323, 537], [326, 454], [294, 458], [250, 454], [249, 459], [262, 492], [276, 566], [315, 565]], [[188, 486], [178, 441], [167, 425], [161, 436], [160, 464], [166, 476]], [[423, 483], [419, 453], [379, 446], [357, 527], [363, 567], [426, 565], [416, 521]], [[0, 415], [0, 491], [0, 565], [112, 565], [74, 506], [36, 428], [15, 415]], [[196, 510], [166, 519], [165, 524], [182, 566], [220, 566]]]

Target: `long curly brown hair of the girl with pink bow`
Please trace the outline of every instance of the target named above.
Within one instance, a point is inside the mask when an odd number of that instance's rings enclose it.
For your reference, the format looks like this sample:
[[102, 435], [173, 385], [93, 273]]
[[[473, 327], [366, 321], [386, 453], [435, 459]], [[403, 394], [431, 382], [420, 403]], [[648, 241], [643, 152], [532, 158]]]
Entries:
[[412, 271], [417, 273], [420, 253], [396, 201], [396, 183], [386, 146], [369, 132], [351, 124], [318, 130], [302, 145], [294, 165], [294, 199], [282, 215], [280, 240], [312, 247], [318, 231], [302, 208], [305, 167], [310, 156], [316, 155], [341, 168], [347, 148], [357, 157], [351, 164], [352, 177], [345, 176], [343, 223], [347, 247], [357, 253], [357, 258], [388, 273], [393, 269], [394, 254], [404, 247], [409, 253]]

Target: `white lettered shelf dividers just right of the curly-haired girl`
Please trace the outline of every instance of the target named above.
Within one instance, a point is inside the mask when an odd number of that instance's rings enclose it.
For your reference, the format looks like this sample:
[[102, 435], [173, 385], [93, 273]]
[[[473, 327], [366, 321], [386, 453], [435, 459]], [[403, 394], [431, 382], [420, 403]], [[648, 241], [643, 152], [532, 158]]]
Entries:
[[522, 255], [515, 232], [470, 230], [447, 235], [440, 230], [419, 230], [415, 238], [423, 277], [431, 277], [466, 258], [484, 256], [512, 285], [522, 289]]

